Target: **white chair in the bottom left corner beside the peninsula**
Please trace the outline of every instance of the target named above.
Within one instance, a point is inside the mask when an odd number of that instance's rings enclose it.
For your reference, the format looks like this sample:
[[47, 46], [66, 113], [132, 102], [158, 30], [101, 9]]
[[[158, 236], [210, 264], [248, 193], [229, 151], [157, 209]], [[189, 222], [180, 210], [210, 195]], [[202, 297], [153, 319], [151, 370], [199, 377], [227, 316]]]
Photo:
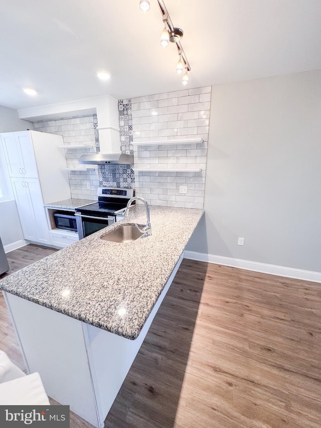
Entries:
[[0, 351], [0, 405], [49, 405], [39, 373], [26, 375]]

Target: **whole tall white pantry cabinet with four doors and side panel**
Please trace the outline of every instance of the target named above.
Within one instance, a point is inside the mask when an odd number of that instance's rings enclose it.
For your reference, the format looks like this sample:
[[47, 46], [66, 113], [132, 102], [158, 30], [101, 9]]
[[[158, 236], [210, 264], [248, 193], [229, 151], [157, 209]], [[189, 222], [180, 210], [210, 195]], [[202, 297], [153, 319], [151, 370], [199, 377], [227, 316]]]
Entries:
[[51, 244], [44, 204], [71, 197], [60, 135], [0, 134], [25, 239]]

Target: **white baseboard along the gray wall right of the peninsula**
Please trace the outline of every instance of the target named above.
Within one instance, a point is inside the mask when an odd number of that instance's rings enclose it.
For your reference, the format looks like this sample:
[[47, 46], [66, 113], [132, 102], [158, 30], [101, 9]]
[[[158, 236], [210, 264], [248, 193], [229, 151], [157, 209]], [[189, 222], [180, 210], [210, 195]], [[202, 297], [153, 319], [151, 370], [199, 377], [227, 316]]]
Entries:
[[191, 260], [205, 261], [207, 263], [223, 264], [224, 266], [239, 267], [240, 269], [254, 270], [255, 272], [270, 273], [272, 275], [287, 276], [289, 278], [304, 279], [321, 282], [321, 272], [294, 269], [292, 267], [277, 266], [275, 264], [258, 263], [257, 261], [241, 260], [239, 258], [222, 257], [220, 255], [184, 251], [184, 257]]

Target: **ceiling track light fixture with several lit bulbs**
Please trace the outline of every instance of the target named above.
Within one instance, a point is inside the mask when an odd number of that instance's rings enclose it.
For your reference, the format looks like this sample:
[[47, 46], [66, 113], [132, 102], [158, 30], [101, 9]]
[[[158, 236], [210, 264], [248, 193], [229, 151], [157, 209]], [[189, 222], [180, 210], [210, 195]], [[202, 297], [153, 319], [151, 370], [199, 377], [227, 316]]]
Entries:
[[[163, 22], [164, 22], [164, 30], [161, 34], [161, 45], [164, 48], [166, 48], [169, 45], [169, 42], [176, 44], [176, 47], [180, 56], [179, 62], [177, 63], [177, 66], [176, 66], [176, 71], [178, 72], [178, 74], [182, 74], [185, 69], [185, 74], [183, 76], [182, 83], [183, 85], [186, 85], [189, 80], [188, 71], [191, 71], [191, 67], [181, 44], [181, 39], [184, 34], [183, 30], [181, 30], [178, 27], [174, 27], [172, 20], [169, 16], [169, 13], [166, 9], [164, 1], [163, 0], [156, 0], [156, 1], [158, 3], [159, 9], [161, 10]], [[150, 0], [139, 1], [139, 8], [143, 12], [147, 12], [149, 10], [149, 7], [150, 7]]]

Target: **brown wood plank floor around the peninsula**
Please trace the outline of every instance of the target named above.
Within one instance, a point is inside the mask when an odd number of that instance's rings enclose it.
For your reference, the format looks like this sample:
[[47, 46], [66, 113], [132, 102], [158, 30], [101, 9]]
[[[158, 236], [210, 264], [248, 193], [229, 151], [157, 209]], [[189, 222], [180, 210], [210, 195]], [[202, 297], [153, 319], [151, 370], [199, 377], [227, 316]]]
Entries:
[[[16, 267], [47, 255], [28, 247]], [[0, 305], [0, 349], [23, 368]], [[184, 260], [105, 428], [319, 428], [320, 351], [320, 284]]]

